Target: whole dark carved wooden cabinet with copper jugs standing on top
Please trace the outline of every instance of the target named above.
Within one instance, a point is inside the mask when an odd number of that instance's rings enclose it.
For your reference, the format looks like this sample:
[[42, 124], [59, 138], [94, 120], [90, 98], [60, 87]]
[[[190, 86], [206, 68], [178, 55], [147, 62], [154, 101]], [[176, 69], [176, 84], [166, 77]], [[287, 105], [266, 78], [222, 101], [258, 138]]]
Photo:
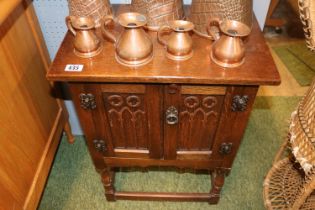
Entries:
[[[116, 62], [106, 40], [96, 57], [76, 57], [68, 33], [47, 76], [69, 84], [107, 200], [217, 203], [257, 90], [279, 84], [279, 74], [257, 22], [246, 42], [245, 63], [233, 69], [210, 61], [207, 39], [193, 35], [194, 56], [175, 62], [165, 57], [156, 33], [150, 35], [153, 61], [130, 68]], [[67, 64], [81, 64], [83, 70], [65, 71]], [[209, 193], [116, 191], [113, 168], [133, 166], [206, 169], [212, 186]]]

